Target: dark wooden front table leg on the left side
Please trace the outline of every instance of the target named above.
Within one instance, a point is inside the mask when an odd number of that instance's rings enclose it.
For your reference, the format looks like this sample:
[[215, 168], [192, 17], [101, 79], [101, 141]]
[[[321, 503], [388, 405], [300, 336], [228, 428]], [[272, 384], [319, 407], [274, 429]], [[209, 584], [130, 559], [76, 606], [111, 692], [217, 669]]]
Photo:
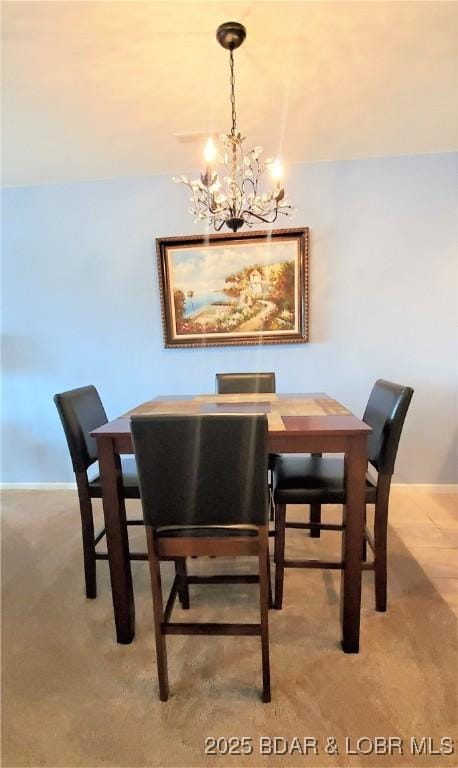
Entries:
[[121, 460], [113, 441], [97, 440], [103, 490], [111, 593], [118, 643], [131, 643], [135, 635], [135, 605], [129, 559], [126, 507], [122, 493]]

